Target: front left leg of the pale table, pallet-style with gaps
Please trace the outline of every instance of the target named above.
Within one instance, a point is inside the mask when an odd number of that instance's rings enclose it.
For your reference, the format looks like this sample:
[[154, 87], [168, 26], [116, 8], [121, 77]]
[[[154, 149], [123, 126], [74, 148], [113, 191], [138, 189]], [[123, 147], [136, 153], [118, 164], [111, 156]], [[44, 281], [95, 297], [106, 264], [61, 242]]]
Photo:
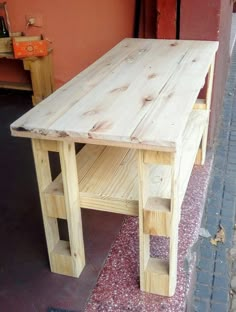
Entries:
[[[51, 271], [78, 277], [84, 268], [85, 256], [74, 144], [33, 139], [32, 147]], [[49, 151], [58, 152], [60, 157], [69, 241], [60, 239], [59, 216], [51, 217], [48, 213], [46, 189], [52, 182]], [[60, 211], [60, 207], [57, 208], [55, 211]]]

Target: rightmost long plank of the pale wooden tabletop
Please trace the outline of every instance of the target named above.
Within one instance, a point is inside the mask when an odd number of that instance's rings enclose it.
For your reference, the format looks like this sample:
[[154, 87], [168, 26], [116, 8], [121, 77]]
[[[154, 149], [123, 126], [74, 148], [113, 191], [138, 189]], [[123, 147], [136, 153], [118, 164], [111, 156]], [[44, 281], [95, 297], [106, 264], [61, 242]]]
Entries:
[[162, 90], [153, 110], [143, 118], [132, 138], [150, 145], [163, 146], [171, 142], [178, 144], [199, 90], [204, 85], [208, 64], [214, 59], [214, 53], [207, 45], [197, 42], [192, 44], [195, 49], [190, 49], [185, 55], [178, 70]]

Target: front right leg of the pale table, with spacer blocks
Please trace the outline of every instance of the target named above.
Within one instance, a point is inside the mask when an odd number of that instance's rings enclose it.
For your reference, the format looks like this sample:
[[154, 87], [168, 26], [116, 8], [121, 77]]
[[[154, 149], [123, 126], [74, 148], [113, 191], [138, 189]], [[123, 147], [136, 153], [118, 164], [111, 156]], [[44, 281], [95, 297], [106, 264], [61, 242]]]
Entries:
[[[154, 155], [153, 152], [141, 150], [138, 158], [140, 288], [153, 294], [173, 296], [177, 280], [180, 161], [175, 153], [156, 152]], [[155, 194], [152, 193], [151, 164], [162, 166], [161, 181], [169, 185], [168, 192], [160, 188]], [[169, 237], [168, 261], [150, 256], [151, 235]]]

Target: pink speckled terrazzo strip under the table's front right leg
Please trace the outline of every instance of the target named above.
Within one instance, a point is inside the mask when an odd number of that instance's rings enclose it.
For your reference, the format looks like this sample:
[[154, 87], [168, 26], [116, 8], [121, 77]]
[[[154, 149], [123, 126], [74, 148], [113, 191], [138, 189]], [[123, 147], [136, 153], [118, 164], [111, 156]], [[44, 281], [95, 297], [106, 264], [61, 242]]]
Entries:
[[[180, 312], [185, 311], [193, 265], [186, 268], [186, 257], [198, 239], [212, 157], [195, 166], [182, 205], [179, 225], [178, 277], [173, 297], [147, 294], [139, 289], [138, 218], [126, 217], [110, 250], [86, 312]], [[152, 237], [151, 254], [168, 259], [169, 241]]]

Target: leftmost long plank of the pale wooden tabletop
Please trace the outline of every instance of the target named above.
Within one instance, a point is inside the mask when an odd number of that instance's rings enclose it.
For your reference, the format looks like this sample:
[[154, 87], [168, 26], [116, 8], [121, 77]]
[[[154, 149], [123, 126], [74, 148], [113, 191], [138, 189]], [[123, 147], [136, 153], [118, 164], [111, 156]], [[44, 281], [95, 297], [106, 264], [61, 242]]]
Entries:
[[120, 63], [132, 59], [139, 51], [142, 53], [142, 50], [149, 45], [149, 40], [144, 43], [140, 39], [135, 42], [124, 39], [115, 48], [108, 51], [95, 63], [56, 90], [40, 106], [37, 105], [37, 107], [22, 116], [13, 124], [13, 128], [24, 125], [24, 128], [28, 130], [33, 130], [37, 127], [47, 129], [91, 89], [106, 79], [116, 67], [120, 66]]

